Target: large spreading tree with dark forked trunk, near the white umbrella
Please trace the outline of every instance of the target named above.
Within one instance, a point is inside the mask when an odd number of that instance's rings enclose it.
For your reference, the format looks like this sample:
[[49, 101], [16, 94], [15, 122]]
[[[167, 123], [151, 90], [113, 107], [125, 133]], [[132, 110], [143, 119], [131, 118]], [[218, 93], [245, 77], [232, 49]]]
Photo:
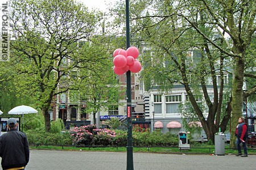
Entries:
[[57, 86], [81, 63], [86, 70], [86, 63], [96, 61], [80, 54], [77, 44], [93, 35], [101, 14], [73, 0], [11, 1], [11, 9], [11, 62], [15, 63], [18, 94], [35, 97], [49, 131], [53, 96], [77, 89], [69, 82], [58, 90]]

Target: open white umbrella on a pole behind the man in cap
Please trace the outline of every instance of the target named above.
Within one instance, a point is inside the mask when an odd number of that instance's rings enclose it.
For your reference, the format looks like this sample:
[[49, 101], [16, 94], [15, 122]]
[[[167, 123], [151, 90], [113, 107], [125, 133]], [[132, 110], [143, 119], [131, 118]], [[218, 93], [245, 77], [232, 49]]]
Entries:
[[36, 109], [27, 105], [19, 105], [8, 112], [8, 114], [22, 114], [22, 131], [23, 131], [23, 114], [29, 114], [29, 113], [38, 113], [38, 111], [36, 111]]

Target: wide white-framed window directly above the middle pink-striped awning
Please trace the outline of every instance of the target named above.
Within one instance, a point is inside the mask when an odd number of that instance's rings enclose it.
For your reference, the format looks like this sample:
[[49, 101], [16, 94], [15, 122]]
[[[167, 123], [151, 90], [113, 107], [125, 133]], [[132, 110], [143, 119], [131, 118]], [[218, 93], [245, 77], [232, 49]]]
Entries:
[[166, 96], [166, 113], [179, 113], [181, 95]]

